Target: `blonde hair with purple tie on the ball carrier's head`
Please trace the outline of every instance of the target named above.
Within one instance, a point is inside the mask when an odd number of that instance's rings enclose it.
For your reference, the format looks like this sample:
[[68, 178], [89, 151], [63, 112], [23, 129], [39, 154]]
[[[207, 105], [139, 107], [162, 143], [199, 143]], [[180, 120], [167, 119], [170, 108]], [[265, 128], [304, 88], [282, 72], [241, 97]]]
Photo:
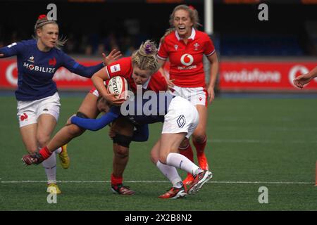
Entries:
[[140, 70], [150, 70], [154, 73], [159, 70], [156, 53], [155, 42], [147, 40], [139, 46], [137, 51], [132, 53], [132, 65], [137, 66]]

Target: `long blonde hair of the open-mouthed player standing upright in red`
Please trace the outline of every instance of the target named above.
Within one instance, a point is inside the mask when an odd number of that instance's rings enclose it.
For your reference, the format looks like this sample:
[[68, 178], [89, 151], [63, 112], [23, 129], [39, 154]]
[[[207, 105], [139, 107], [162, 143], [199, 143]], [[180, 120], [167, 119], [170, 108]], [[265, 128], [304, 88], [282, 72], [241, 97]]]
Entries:
[[187, 5], [179, 5], [176, 6], [172, 12], [172, 14], [170, 14], [170, 28], [168, 28], [168, 30], [166, 30], [166, 33], [163, 35], [163, 37], [161, 37], [160, 42], [163, 43], [164, 39], [166, 36], [168, 36], [168, 34], [170, 34], [171, 32], [175, 31], [175, 27], [174, 27], [174, 17], [175, 17], [175, 13], [176, 11], [179, 10], [185, 10], [189, 13], [189, 18], [193, 23], [193, 27], [195, 29], [197, 29], [199, 26], [201, 26], [201, 24], [199, 23], [199, 16], [198, 16], [198, 11], [196, 8], [194, 8], [193, 6], [187, 6]]

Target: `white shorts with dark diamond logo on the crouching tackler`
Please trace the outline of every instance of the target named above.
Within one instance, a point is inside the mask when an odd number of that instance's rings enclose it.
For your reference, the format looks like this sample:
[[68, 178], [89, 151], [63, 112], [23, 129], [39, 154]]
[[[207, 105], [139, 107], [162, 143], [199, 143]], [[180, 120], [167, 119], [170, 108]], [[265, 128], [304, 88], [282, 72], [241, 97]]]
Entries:
[[196, 129], [199, 122], [197, 109], [185, 98], [176, 96], [170, 101], [168, 113], [164, 117], [162, 134], [187, 133], [189, 137]]

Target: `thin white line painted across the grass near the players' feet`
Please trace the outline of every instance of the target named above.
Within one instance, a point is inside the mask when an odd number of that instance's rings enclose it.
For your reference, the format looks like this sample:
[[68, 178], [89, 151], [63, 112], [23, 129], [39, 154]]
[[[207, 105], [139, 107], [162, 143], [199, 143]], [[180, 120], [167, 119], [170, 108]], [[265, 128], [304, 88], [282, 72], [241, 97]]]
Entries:
[[[1, 184], [46, 183], [47, 181], [1, 181]], [[57, 181], [57, 183], [110, 183], [111, 181]], [[169, 181], [125, 181], [125, 183], [169, 183]], [[315, 184], [292, 181], [209, 181], [214, 184]]]

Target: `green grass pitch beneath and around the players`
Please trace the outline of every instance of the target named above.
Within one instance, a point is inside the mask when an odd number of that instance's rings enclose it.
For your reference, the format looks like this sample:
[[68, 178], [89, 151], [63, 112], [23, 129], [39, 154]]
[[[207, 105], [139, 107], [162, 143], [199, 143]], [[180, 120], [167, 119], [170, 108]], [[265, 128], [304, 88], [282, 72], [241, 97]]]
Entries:
[[[61, 94], [55, 131], [82, 98]], [[206, 146], [214, 177], [197, 195], [179, 200], [157, 198], [170, 187], [149, 160], [161, 124], [150, 126], [149, 141], [130, 146], [124, 184], [136, 191], [133, 196], [110, 191], [108, 128], [86, 131], [68, 145], [70, 168], [57, 167], [63, 193], [56, 204], [46, 201], [42, 166], [20, 162], [25, 148], [15, 99], [2, 96], [0, 101], [0, 210], [317, 210], [316, 98], [216, 98], [209, 106]], [[259, 203], [261, 186], [268, 188], [267, 204]]]

